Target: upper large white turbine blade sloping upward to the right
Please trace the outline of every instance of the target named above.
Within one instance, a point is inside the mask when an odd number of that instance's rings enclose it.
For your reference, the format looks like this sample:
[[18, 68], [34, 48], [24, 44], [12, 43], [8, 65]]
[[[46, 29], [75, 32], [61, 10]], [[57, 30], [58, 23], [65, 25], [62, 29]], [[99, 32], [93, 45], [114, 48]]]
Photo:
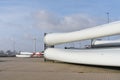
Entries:
[[120, 21], [69, 33], [51, 33], [44, 37], [47, 45], [87, 40], [120, 34]]

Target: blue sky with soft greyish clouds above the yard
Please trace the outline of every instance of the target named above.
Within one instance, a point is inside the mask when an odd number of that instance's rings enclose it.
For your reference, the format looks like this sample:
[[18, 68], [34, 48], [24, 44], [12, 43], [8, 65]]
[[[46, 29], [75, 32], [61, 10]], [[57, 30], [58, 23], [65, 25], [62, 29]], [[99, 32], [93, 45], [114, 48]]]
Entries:
[[[120, 20], [120, 0], [0, 0], [0, 50], [43, 50], [43, 35]], [[118, 36], [112, 37], [114, 39]]]

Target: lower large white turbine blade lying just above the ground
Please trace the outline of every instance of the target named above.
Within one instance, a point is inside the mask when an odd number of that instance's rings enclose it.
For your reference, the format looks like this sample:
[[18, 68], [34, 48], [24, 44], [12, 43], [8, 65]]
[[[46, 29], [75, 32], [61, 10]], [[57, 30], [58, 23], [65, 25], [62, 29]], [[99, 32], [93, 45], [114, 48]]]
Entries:
[[120, 67], [120, 48], [86, 50], [48, 48], [44, 56], [50, 60], [69, 63]]

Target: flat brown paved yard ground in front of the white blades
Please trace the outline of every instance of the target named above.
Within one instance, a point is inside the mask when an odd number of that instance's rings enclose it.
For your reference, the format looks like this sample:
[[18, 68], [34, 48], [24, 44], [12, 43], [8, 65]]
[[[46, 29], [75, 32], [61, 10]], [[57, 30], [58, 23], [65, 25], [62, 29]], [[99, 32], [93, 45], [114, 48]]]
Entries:
[[120, 68], [0, 57], [0, 80], [120, 80]]

